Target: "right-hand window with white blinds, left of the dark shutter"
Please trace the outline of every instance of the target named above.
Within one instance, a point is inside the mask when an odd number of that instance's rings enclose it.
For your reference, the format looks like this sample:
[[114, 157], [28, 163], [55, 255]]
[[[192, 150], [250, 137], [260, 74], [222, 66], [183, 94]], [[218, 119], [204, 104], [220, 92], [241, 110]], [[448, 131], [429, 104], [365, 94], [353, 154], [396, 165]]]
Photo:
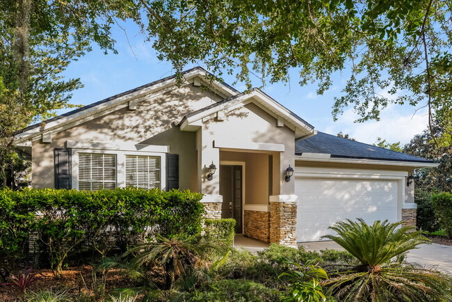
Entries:
[[126, 155], [126, 186], [160, 189], [160, 157]]

